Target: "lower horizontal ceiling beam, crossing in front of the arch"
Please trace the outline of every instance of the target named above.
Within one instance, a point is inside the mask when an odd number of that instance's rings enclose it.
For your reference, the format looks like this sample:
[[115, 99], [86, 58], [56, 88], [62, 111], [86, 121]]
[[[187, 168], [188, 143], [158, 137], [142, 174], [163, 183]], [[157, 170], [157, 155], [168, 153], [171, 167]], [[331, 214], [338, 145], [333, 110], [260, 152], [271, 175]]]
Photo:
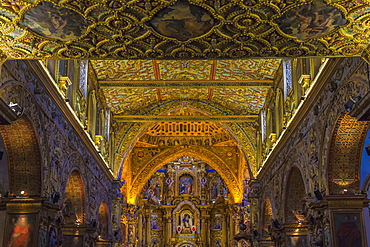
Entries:
[[146, 116], [114, 115], [117, 122], [255, 122], [258, 115]]

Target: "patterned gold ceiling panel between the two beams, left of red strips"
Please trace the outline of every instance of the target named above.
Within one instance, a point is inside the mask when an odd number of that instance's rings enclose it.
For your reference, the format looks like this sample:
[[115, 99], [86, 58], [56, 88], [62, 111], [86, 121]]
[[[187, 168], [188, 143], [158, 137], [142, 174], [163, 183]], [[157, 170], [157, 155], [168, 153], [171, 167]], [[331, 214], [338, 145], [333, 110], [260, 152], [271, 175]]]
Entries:
[[142, 107], [157, 101], [157, 90], [145, 89], [103, 89], [108, 107], [114, 114], [132, 115]]

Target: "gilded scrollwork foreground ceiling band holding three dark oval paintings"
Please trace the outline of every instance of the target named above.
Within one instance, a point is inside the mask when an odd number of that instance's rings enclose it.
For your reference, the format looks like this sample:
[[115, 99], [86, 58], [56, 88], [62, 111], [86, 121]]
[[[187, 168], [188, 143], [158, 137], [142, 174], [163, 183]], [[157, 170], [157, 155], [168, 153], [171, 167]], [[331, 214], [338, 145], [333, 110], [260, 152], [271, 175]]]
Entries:
[[0, 50], [2, 59], [360, 56], [369, 13], [365, 0], [3, 0]]

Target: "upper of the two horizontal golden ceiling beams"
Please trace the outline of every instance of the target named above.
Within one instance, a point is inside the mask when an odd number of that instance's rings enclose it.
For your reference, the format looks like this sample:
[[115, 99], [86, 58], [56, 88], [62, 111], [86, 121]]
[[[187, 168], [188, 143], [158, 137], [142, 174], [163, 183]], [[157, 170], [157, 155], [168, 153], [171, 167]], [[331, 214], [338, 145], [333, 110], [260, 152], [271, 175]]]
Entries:
[[99, 81], [101, 88], [240, 88], [240, 87], [272, 87], [273, 80], [122, 80]]

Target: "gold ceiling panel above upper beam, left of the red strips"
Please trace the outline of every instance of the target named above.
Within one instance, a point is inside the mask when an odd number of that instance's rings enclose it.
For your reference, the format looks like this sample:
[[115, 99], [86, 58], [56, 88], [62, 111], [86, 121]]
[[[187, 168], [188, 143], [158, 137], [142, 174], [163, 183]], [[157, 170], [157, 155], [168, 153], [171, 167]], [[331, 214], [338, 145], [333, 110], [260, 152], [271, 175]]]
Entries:
[[155, 80], [152, 60], [92, 60], [98, 80]]

